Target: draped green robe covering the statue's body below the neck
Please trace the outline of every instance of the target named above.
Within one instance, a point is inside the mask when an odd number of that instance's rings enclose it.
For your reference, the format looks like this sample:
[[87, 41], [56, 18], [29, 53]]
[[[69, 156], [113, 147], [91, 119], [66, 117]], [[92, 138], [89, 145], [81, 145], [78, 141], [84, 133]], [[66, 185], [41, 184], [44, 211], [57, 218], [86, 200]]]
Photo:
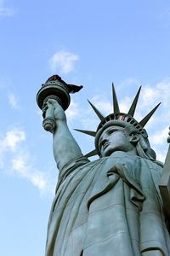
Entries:
[[156, 162], [115, 152], [59, 173], [46, 256], [168, 256]]

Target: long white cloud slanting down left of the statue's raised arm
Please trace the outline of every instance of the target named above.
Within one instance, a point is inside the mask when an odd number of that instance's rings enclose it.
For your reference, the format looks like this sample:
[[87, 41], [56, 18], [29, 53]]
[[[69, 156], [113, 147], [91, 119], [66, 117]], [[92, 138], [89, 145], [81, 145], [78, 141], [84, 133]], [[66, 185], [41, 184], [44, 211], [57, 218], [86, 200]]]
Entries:
[[[26, 132], [19, 127], [10, 129], [0, 138], [0, 168], [8, 166], [10, 172], [27, 178], [41, 195], [54, 194], [54, 180], [34, 165], [26, 148]], [[6, 167], [7, 169], [7, 167]]]

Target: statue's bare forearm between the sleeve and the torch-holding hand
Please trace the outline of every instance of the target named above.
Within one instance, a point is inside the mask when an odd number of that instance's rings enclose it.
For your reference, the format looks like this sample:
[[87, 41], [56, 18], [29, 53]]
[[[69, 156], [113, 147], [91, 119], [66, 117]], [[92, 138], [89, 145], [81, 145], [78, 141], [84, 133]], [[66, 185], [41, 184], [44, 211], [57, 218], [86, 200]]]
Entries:
[[77, 157], [81, 157], [82, 152], [75, 138], [65, 122], [59, 121], [54, 131], [54, 159], [59, 170], [65, 164]]

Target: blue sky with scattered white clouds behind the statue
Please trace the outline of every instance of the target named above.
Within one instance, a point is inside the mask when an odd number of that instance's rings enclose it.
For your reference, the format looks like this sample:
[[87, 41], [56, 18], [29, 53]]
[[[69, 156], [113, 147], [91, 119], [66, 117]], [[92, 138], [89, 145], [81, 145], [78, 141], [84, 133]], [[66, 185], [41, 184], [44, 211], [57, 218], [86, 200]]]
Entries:
[[111, 83], [127, 111], [143, 85], [136, 119], [161, 107], [146, 129], [158, 160], [170, 125], [169, 1], [0, 0], [1, 254], [42, 256], [58, 171], [36, 95], [54, 73], [83, 89], [71, 96], [68, 124], [85, 154], [95, 130], [87, 98], [111, 113]]

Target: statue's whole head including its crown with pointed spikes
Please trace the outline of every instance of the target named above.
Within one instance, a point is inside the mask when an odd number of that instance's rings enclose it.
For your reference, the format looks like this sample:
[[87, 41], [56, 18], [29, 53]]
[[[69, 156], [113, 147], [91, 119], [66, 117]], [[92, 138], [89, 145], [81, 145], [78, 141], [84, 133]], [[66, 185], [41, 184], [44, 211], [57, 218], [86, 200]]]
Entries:
[[81, 131], [95, 137], [95, 149], [88, 153], [87, 156], [99, 154], [100, 157], [109, 156], [115, 151], [124, 151], [137, 154], [148, 159], [156, 159], [155, 151], [150, 148], [148, 134], [144, 130], [144, 125], [149, 121], [156, 108], [152, 109], [144, 119], [137, 121], [133, 118], [135, 108], [139, 98], [139, 92], [135, 96], [128, 113], [121, 113], [116, 99], [116, 92], [113, 86], [113, 107], [114, 111], [110, 115], [104, 117], [94, 105], [94, 112], [97, 113], [101, 122], [97, 131]]

